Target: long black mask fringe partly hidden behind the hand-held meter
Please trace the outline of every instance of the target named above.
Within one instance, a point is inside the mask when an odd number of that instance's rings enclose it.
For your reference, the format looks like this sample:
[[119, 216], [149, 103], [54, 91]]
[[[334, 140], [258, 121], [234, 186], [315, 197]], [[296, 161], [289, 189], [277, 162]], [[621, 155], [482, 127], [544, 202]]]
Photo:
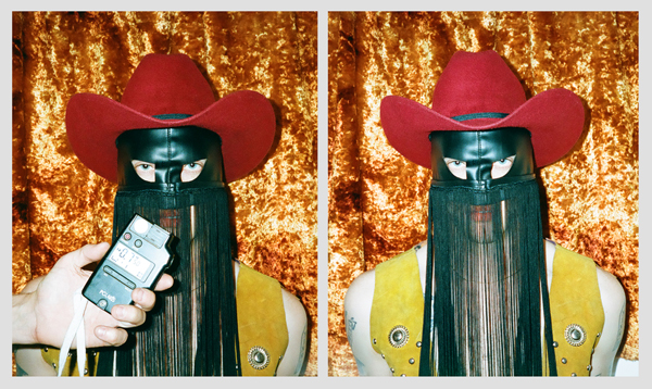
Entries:
[[[118, 191], [114, 209], [114, 239], [134, 213], [178, 238], [175, 286], [159, 293], [146, 325], [117, 349], [116, 375], [241, 375], [225, 188]], [[98, 375], [113, 375], [106, 354], [100, 353]]]

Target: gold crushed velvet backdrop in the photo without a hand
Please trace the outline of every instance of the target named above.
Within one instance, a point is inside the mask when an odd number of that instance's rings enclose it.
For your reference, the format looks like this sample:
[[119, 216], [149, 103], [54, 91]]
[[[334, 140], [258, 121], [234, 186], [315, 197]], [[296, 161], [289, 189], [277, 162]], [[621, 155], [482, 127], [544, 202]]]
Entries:
[[425, 239], [430, 171], [388, 143], [380, 99], [431, 104], [457, 50], [498, 51], [528, 98], [563, 87], [590, 118], [578, 148], [541, 171], [549, 237], [595, 260], [627, 293], [638, 359], [638, 13], [330, 13], [329, 375], [356, 375], [342, 302], [362, 272]]

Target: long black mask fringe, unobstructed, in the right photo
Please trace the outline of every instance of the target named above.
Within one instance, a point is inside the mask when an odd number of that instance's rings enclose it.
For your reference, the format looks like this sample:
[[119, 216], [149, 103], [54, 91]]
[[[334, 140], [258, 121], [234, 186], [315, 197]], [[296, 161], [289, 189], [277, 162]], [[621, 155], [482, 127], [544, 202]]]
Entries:
[[431, 186], [429, 196], [419, 375], [541, 376], [541, 301], [549, 308], [536, 181]]

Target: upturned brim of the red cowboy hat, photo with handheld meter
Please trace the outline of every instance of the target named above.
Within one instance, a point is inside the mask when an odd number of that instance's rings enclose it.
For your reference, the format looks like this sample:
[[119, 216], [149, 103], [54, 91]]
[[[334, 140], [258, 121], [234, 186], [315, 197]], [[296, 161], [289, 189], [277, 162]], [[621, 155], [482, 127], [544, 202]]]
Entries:
[[115, 139], [129, 129], [197, 126], [216, 133], [222, 139], [227, 183], [246, 176], [262, 162], [276, 131], [272, 104], [251, 90], [227, 95], [183, 120], [154, 118], [103, 96], [78, 93], [68, 102], [65, 123], [79, 161], [113, 183], [117, 181]]

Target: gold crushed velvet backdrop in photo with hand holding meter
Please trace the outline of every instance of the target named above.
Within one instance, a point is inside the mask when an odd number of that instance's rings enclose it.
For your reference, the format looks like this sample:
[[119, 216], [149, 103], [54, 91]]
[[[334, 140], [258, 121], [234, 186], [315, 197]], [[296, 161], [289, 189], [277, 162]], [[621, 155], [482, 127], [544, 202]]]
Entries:
[[61, 255], [111, 238], [115, 185], [72, 152], [64, 126], [70, 97], [84, 91], [120, 100], [146, 53], [186, 53], [216, 97], [250, 89], [274, 105], [273, 150], [262, 167], [230, 184], [238, 259], [303, 302], [306, 375], [315, 376], [316, 12], [14, 13], [12, 38], [13, 291]]

